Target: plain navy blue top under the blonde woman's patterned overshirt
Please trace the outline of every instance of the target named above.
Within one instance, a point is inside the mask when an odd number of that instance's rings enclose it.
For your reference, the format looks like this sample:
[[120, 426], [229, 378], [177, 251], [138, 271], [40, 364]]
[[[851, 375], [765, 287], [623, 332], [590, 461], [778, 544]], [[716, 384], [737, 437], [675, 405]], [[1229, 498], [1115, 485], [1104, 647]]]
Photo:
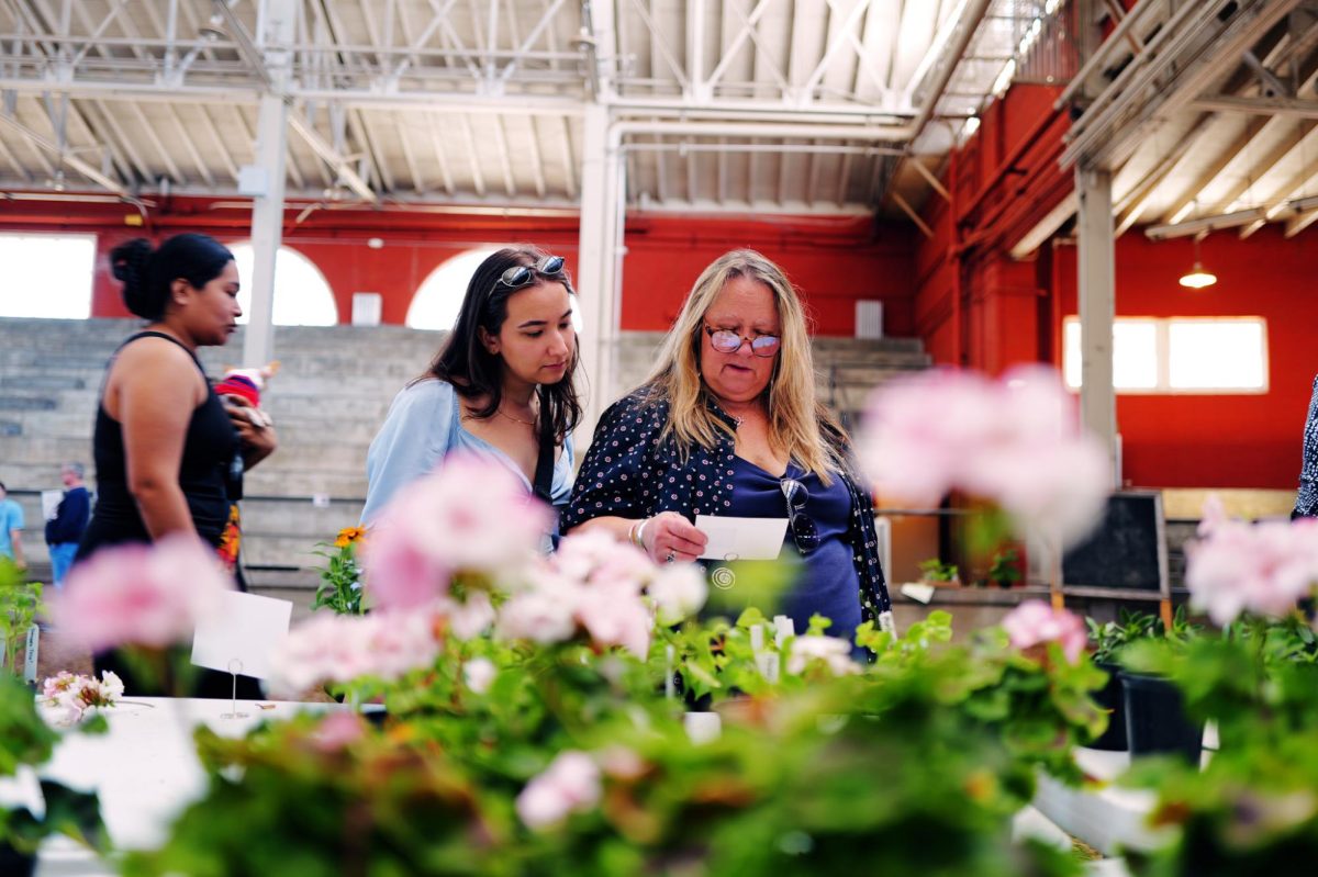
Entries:
[[[820, 544], [813, 552], [795, 558], [796, 543], [792, 528], [787, 528], [783, 558], [793, 558], [801, 570], [778, 611], [791, 616], [797, 633], [804, 633], [811, 615], [818, 614], [833, 622], [828, 628], [829, 636], [850, 640], [861, 624], [861, 579], [846, 544], [851, 495], [841, 478], [834, 478], [825, 487], [818, 475], [807, 473], [795, 462], [787, 465], [784, 477], [795, 478], [809, 492], [805, 507], [797, 515], [808, 515], [815, 521]], [[733, 504], [728, 514], [735, 518], [786, 518], [787, 499], [780, 485], [782, 479], [776, 475], [737, 457], [733, 460]]]

